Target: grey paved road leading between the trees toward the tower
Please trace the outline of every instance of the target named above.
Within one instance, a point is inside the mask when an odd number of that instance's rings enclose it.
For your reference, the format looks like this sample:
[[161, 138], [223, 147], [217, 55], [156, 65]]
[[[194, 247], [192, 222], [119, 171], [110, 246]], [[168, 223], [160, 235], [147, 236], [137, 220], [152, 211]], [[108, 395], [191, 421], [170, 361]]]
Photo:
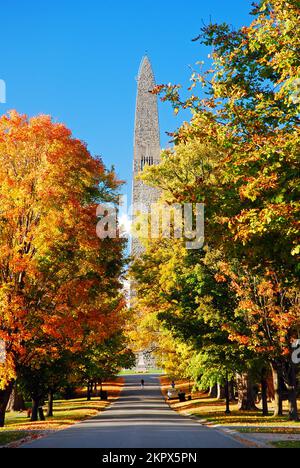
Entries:
[[120, 399], [101, 415], [24, 445], [25, 448], [243, 448], [243, 445], [166, 405], [158, 377], [126, 377]]

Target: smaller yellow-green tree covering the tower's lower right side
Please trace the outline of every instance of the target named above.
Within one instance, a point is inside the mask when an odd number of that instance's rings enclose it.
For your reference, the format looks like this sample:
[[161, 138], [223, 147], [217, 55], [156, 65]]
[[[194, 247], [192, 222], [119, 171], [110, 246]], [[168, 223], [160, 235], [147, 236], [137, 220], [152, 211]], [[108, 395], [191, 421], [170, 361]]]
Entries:
[[215, 277], [211, 265], [216, 259], [211, 257], [207, 249], [188, 251], [182, 240], [152, 241], [131, 273], [138, 336], [144, 344], [154, 344], [152, 350], [170, 376], [193, 378], [202, 389], [225, 386], [253, 359], [222, 329], [233, 320], [235, 300], [228, 285]]

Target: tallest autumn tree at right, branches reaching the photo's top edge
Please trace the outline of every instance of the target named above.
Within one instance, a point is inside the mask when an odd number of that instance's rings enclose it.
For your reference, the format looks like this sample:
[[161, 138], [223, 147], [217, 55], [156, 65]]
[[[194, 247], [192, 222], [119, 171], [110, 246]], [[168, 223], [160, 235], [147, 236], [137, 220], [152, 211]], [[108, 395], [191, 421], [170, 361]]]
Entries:
[[212, 47], [212, 64], [193, 73], [189, 98], [179, 86], [157, 87], [176, 113], [191, 109], [192, 118], [142, 178], [169, 204], [205, 204], [206, 244], [221, 253], [215, 279], [235, 296], [234, 313], [219, 324], [272, 366], [274, 382], [285, 381], [297, 420], [299, 7], [266, 0], [252, 14], [239, 30], [203, 27], [195, 42]]

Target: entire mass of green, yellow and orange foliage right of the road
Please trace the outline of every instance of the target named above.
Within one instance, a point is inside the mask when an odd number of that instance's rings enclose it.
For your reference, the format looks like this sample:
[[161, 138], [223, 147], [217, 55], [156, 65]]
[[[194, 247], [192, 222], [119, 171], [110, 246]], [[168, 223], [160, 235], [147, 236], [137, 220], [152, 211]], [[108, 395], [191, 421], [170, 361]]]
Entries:
[[237, 373], [260, 382], [272, 369], [276, 412], [287, 392], [297, 420], [299, 8], [270, 0], [252, 13], [237, 31], [202, 29], [197, 40], [213, 49], [212, 63], [193, 73], [190, 97], [179, 86], [155, 90], [192, 118], [142, 178], [168, 204], [205, 204], [206, 246], [149, 243], [133, 278], [165, 367], [202, 388]]

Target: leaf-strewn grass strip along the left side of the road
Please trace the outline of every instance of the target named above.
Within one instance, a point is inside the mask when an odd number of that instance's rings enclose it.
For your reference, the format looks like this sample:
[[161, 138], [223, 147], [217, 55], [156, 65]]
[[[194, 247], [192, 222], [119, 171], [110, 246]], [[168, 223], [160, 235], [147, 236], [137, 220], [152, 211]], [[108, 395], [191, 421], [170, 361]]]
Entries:
[[103, 390], [109, 394], [109, 401], [100, 401], [99, 397], [87, 401], [86, 398], [76, 400], [60, 400], [54, 402], [54, 416], [46, 421], [30, 422], [26, 413], [7, 413], [5, 428], [0, 428], [0, 446], [20, 441], [36, 439], [43, 434], [58, 431], [68, 426], [96, 416], [111, 402], [119, 397], [123, 379], [103, 385]]

